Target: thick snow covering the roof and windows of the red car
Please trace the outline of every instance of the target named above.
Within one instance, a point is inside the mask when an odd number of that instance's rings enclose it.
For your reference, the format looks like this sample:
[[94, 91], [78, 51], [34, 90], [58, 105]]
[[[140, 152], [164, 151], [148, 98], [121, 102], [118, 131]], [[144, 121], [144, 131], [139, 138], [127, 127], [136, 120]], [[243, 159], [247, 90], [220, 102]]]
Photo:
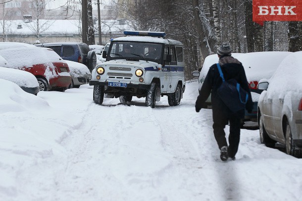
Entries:
[[19, 47], [0, 50], [0, 55], [12, 66], [21, 69], [34, 64], [65, 61], [50, 48]]

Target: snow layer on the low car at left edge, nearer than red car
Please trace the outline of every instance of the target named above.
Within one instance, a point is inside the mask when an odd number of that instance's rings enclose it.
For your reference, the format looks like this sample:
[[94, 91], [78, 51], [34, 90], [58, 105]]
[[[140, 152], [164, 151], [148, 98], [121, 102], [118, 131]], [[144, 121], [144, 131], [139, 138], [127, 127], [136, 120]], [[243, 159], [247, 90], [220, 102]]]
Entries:
[[0, 79], [12, 81], [17, 85], [24, 87], [39, 86], [38, 81], [33, 74], [18, 69], [0, 67]]

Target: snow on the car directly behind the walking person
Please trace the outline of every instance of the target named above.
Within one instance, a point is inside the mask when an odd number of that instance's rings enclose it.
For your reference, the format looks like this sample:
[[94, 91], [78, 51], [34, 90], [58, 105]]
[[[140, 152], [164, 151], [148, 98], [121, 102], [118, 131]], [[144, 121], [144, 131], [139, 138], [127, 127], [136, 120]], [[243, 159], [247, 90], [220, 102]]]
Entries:
[[[274, 52], [249, 52], [232, 53], [232, 56], [238, 59], [246, 72], [248, 81], [269, 79], [276, 71], [282, 60], [292, 52], [274, 51]], [[217, 54], [209, 55], [205, 58], [201, 74], [206, 76], [211, 65], [219, 60]], [[204, 74], [204, 75], [203, 75]]]

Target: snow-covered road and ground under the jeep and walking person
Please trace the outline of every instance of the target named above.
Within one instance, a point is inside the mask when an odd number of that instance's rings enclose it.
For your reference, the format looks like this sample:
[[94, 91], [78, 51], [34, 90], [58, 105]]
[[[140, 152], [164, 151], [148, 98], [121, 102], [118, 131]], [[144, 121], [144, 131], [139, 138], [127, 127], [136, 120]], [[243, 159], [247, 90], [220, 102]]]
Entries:
[[197, 88], [151, 109], [143, 98], [96, 105], [83, 85], [40, 92], [46, 109], [1, 114], [13, 134], [0, 135], [0, 201], [299, 201], [302, 159], [261, 145], [258, 130], [242, 129], [237, 160], [220, 161]]

